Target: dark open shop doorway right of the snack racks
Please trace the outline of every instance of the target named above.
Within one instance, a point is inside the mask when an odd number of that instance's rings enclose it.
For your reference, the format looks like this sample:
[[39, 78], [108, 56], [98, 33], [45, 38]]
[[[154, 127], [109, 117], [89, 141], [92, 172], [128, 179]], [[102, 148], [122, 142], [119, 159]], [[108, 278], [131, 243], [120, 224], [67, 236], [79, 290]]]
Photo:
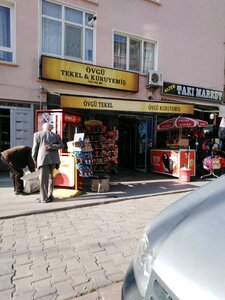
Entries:
[[119, 118], [119, 167], [141, 172], [150, 170], [153, 118]]

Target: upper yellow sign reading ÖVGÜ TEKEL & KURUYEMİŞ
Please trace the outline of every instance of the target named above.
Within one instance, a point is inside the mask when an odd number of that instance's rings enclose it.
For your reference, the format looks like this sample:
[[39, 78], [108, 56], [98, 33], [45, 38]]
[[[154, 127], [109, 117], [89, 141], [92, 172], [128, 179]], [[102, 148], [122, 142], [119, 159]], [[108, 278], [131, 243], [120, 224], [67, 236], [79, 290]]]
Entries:
[[48, 56], [41, 57], [41, 79], [138, 92], [139, 74]]

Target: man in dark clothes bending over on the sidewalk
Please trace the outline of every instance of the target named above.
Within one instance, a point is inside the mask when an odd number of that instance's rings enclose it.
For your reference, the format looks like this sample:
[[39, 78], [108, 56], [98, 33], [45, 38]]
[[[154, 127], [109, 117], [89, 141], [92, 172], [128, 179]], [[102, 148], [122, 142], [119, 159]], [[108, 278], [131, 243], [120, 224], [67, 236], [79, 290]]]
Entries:
[[16, 146], [1, 153], [1, 160], [12, 174], [14, 192], [16, 195], [25, 195], [21, 177], [23, 169], [28, 167], [30, 172], [35, 171], [35, 164], [31, 156], [31, 147]]

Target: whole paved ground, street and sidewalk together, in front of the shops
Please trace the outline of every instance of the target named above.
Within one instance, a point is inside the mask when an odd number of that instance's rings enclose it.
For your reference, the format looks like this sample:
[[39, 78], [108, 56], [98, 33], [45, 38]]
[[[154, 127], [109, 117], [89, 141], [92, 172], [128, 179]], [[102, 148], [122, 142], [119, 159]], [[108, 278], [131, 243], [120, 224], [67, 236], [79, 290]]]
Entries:
[[[112, 176], [108, 193], [43, 204], [35, 202], [38, 194], [15, 196], [9, 175], [0, 173], [0, 277], [5, 280], [0, 298], [121, 299], [124, 273], [147, 220], [180, 193], [214, 179], [180, 183], [174, 177], [129, 172]], [[80, 207], [86, 209], [72, 210]]]

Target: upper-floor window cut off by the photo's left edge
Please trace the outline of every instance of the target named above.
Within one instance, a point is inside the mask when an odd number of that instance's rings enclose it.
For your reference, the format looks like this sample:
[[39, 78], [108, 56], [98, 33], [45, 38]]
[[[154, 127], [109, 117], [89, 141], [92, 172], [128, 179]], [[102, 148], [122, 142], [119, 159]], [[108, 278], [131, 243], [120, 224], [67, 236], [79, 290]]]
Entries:
[[0, 0], [0, 61], [15, 61], [13, 13], [13, 2]]

